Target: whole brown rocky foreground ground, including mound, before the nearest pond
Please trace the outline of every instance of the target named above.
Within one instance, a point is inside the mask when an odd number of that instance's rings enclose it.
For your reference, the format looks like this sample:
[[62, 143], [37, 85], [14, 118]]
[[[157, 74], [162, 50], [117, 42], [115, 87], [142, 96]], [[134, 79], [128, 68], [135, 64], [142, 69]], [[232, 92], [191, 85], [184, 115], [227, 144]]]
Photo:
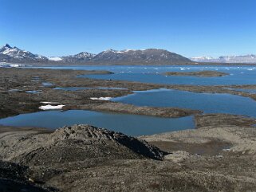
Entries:
[[195, 130], [140, 139], [88, 125], [54, 132], [1, 127], [0, 186], [8, 191], [254, 191], [256, 131], [250, 125], [256, 121], [213, 114], [197, 116], [196, 122]]

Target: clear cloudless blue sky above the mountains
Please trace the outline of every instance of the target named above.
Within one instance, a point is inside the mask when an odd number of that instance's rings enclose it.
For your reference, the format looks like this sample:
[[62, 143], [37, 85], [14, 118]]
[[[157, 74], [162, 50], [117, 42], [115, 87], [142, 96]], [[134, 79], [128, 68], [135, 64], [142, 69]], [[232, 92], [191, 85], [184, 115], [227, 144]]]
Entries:
[[255, 0], [0, 0], [0, 45], [45, 56], [167, 49], [256, 54]]

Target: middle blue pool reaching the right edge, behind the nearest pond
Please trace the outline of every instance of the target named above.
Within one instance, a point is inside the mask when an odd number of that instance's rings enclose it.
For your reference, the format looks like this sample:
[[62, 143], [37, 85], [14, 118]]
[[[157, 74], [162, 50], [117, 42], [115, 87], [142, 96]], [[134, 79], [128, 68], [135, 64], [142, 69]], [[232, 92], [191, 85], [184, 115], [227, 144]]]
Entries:
[[113, 98], [124, 104], [199, 109], [204, 113], [230, 113], [256, 117], [256, 102], [248, 97], [223, 93], [197, 93], [171, 89], [135, 92]]

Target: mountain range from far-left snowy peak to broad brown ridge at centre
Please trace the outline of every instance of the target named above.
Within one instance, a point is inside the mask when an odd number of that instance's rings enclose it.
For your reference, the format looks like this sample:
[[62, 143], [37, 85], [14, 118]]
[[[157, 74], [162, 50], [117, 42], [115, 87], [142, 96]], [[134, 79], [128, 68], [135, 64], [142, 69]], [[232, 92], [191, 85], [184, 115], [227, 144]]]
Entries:
[[0, 62], [18, 64], [54, 65], [174, 65], [192, 61], [164, 49], [108, 49], [98, 54], [81, 52], [63, 57], [44, 57], [6, 44], [0, 48]]

